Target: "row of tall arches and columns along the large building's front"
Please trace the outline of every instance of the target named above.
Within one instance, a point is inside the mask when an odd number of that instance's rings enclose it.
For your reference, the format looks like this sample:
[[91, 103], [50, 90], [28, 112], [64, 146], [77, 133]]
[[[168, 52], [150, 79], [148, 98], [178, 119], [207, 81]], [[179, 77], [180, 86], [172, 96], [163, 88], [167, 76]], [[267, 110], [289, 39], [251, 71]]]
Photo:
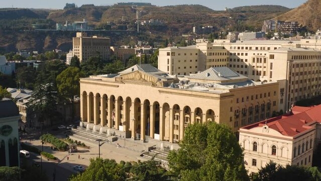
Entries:
[[83, 92], [81, 95], [82, 121], [131, 132], [132, 139], [145, 140], [146, 136], [171, 143], [183, 139], [184, 130], [195, 122], [215, 121], [215, 112], [179, 104], [132, 99], [122, 96]]

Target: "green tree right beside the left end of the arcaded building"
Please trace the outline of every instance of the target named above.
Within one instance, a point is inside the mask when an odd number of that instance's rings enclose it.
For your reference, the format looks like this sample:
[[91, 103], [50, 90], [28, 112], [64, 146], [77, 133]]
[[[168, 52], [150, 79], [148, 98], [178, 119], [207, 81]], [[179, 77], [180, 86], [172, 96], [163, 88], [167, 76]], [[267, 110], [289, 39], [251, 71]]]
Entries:
[[74, 99], [79, 96], [79, 78], [82, 76], [79, 68], [68, 67], [57, 76], [59, 94], [71, 103], [71, 115], [74, 119]]

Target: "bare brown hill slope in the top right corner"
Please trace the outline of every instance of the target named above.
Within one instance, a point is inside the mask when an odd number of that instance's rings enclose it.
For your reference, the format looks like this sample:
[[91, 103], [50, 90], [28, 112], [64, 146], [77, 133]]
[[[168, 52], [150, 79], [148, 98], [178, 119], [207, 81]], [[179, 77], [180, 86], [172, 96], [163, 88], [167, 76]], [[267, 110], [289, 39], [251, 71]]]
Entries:
[[303, 5], [277, 16], [275, 20], [280, 21], [297, 21], [307, 29], [316, 31], [321, 27], [321, 1], [309, 0]]

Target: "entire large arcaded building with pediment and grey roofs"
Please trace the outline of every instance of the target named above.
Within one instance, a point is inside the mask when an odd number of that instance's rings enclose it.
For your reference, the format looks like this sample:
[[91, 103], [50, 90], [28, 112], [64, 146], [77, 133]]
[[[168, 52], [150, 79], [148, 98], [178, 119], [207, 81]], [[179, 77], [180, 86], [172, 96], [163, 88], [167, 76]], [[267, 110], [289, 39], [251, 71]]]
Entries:
[[195, 122], [227, 124], [237, 133], [278, 110], [278, 89], [277, 82], [255, 82], [228, 67], [175, 76], [135, 65], [80, 79], [81, 127], [105, 136], [148, 135], [157, 147], [182, 140], [185, 127]]

